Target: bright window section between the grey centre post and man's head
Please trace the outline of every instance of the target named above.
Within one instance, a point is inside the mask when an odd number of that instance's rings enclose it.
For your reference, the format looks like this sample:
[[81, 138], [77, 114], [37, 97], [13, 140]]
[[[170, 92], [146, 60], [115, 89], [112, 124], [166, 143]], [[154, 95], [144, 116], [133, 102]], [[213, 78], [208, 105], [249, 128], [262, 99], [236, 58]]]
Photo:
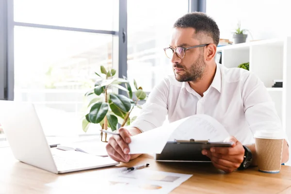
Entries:
[[186, 13], [188, 0], [128, 0], [127, 73], [145, 91], [173, 73], [163, 48], [169, 45], [175, 21]]

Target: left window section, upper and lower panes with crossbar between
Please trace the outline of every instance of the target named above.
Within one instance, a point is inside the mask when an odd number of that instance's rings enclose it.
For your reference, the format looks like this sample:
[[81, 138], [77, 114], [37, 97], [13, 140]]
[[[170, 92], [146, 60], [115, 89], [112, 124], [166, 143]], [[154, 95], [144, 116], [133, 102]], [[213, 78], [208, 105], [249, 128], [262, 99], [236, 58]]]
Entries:
[[84, 133], [84, 94], [100, 65], [113, 66], [118, 6], [118, 0], [14, 0], [14, 100], [35, 105], [46, 135]]

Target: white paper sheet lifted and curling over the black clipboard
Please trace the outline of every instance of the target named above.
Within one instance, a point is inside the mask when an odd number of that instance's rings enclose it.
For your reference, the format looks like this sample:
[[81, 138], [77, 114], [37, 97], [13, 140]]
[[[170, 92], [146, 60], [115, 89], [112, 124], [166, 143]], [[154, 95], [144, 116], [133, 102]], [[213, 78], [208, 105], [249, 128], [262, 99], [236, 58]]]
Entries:
[[131, 137], [130, 154], [160, 154], [167, 141], [209, 140], [222, 142], [229, 136], [226, 129], [206, 114], [196, 114]]

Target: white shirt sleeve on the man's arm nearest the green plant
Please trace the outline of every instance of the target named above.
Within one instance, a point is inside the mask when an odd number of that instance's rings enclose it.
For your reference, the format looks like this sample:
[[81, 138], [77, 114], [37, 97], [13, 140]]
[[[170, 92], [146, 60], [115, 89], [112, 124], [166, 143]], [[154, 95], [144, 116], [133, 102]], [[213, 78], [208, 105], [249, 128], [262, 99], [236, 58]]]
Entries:
[[142, 132], [162, 126], [168, 113], [168, 97], [170, 82], [164, 78], [149, 94], [140, 115], [130, 127], [136, 127]]

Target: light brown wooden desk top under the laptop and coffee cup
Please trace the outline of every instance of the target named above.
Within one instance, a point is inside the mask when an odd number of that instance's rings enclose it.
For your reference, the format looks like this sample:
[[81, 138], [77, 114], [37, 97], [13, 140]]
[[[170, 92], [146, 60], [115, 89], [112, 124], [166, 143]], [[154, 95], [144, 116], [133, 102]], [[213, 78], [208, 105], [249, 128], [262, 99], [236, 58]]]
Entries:
[[[142, 155], [119, 166], [145, 162], [150, 163], [150, 169], [193, 174], [173, 194], [291, 194], [291, 166], [282, 166], [279, 174], [260, 173], [258, 168], [225, 174], [216, 170], [211, 163], [162, 163], [155, 162], [149, 155]], [[98, 180], [102, 179], [102, 172], [104, 169], [55, 175], [18, 162], [10, 148], [0, 148], [0, 194], [64, 194], [68, 193], [69, 183], [79, 183], [82, 188], [84, 178], [96, 179], [96, 183], [90, 185], [89, 191], [101, 194], [104, 192], [100, 192], [102, 185], [98, 185]], [[57, 186], [51, 187], [48, 183], [56, 183]]]

